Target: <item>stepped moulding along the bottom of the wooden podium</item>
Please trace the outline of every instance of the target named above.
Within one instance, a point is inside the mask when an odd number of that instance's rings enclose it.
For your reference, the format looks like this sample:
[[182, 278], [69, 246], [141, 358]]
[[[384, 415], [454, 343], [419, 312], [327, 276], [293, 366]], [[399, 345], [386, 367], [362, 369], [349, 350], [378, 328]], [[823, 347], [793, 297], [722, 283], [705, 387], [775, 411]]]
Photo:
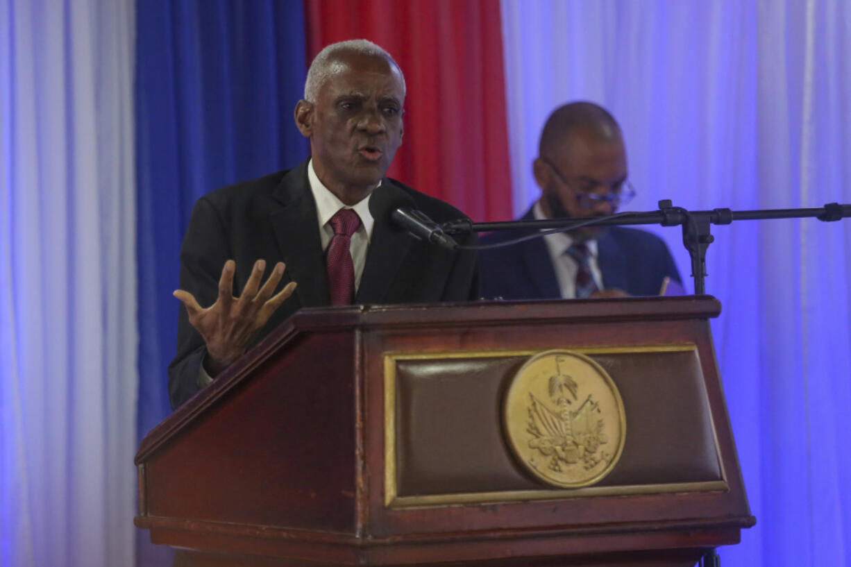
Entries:
[[[756, 523], [752, 516], [694, 519], [676, 522], [637, 522], [603, 524], [581, 528], [553, 527], [546, 530], [487, 530], [465, 534], [409, 534], [371, 538], [328, 532], [285, 530], [242, 524], [221, 524], [172, 518], [136, 518], [135, 524], [150, 530], [151, 541], [161, 545], [186, 547], [187, 536], [204, 553], [265, 557], [262, 564], [275, 561], [306, 561], [334, 565], [443, 564], [467, 561], [471, 553], [481, 560], [532, 558], [548, 555], [635, 553], [637, 546], [646, 551], [671, 550], [671, 535], [686, 547], [718, 547], [740, 541], [740, 530]], [[675, 528], [671, 530], [671, 528]], [[688, 546], [686, 542], [688, 541]], [[485, 557], [487, 556], [487, 557]], [[266, 563], [269, 562], [269, 563]], [[277, 563], [274, 563], [277, 564]], [[283, 563], [282, 563], [283, 564]], [[524, 563], [525, 564], [525, 563]]]

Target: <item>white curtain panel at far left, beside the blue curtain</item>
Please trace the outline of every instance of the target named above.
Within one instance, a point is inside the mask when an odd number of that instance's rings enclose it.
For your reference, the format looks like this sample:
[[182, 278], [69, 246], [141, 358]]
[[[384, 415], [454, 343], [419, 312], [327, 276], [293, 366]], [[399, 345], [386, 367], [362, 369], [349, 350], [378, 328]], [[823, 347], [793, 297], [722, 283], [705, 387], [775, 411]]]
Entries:
[[0, 0], [0, 564], [134, 564], [134, 3]]

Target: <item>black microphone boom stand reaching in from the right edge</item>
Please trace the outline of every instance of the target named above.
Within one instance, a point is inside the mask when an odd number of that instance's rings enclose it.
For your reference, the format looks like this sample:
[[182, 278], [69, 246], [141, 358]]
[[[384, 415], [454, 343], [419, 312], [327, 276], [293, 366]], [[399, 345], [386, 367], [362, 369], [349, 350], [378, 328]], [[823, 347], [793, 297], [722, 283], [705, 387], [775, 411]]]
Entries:
[[728, 225], [733, 221], [755, 221], [762, 219], [803, 219], [815, 217], [820, 221], [840, 221], [851, 217], [851, 204], [828, 203], [816, 209], [762, 209], [740, 210], [712, 209], [689, 211], [674, 207], [670, 199], [659, 202], [659, 210], [645, 213], [629, 213], [618, 217], [572, 217], [545, 221], [500, 221], [471, 222], [448, 221], [441, 225], [447, 234], [468, 232], [491, 232], [505, 230], [543, 230], [562, 228], [568, 231], [574, 226], [628, 226], [661, 225], [683, 226], [683, 244], [691, 256], [694, 293], [705, 293], [706, 249], [715, 240], [711, 225]]

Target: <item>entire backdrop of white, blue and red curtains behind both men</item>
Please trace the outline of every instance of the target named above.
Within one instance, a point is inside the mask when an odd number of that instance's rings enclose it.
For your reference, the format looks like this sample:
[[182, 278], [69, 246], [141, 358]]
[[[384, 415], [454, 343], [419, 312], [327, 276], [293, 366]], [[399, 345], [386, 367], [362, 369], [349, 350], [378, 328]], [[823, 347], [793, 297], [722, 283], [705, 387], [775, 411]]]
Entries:
[[[477, 220], [537, 197], [540, 127], [575, 99], [620, 120], [632, 209], [851, 202], [842, 0], [306, 6], [307, 26], [300, 2], [0, 0], [0, 565], [134, 564], [137, 429], [168, 413], [191, 203], [306, 155], [292, 109], [324, 43], [397, 57], [392, 173]], [[685, 271], [677, 231], [657, 232]], [[849, 221], [714, 233], [717, 356], [758, 518], [722, 560], [848, 564]], [[162, 564], [144, 541], [135, 564]]]

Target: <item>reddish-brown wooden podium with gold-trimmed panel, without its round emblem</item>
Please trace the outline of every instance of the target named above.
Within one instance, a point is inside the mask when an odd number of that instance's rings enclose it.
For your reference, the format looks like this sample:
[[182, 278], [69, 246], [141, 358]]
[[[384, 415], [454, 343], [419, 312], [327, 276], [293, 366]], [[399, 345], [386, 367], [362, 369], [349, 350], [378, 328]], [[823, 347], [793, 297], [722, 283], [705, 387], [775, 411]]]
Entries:
[[[138, 526], [183, 565], [693, 565], [748, 508], [709, 296], [303, 310], [142, 441]], [[534, 478], [503, 398], [535, 353], [608, 372], [614, 468]]]

